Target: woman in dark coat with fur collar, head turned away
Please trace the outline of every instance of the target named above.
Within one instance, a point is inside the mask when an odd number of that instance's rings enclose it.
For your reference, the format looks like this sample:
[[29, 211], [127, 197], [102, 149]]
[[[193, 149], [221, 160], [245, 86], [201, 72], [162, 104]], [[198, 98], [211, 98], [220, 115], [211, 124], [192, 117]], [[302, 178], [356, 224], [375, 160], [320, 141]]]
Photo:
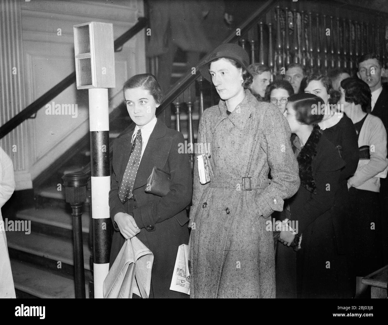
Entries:
[[[291, 273], [295, 274], [292, 268], [296, 268], [296, 276], [291, 279], [295, 285], [277, 278], [277, 286], [285, 290], [296, 288], [294, 296], [301, 298], [338, 297], [340, 276], [344, 272], [338, 264], [338, 239], [331, 207], [345, 162], [317, 125], [322, 115], [314, 114], [313, 109], [320, 102], [322, 99], [312, 94], [292, 95], [284, 112], [291, 132], [297, 135], [301, 145], [297, 157], [301, 185], [284, 203], [284, 210], [290, 220], [297, 221], [296, 230], [301, 241], [298, 252], [293, 252], [287, 260], [279, 257], [277, 260], [277, 267], [288, 268]], [[292, 232], [284, 230], [279, 240], [289, 246], [294, 237]], [[288, 296], [292, 296], [292, 292]]]

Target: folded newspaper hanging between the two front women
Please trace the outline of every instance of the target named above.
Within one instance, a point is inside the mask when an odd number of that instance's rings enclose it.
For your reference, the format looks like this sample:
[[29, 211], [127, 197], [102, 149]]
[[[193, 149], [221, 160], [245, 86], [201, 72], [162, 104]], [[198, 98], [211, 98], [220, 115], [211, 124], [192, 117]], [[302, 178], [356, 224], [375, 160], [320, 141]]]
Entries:
[[190, 294], [190, 246], [178, 247], [170, 290]]

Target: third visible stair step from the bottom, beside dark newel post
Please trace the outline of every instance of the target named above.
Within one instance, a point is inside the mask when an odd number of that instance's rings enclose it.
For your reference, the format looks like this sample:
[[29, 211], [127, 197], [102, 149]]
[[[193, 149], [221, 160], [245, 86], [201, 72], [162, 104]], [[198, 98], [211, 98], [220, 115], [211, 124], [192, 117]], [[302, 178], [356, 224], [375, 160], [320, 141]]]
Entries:
[[[44, 208], [44, 209], [25, 209], [16, 213], [16, 218], [21, 220], [31, 220], [33, 231], [35, 226], [39, 224], [62, 228], [73, 232], [73, 216], [61, 211], [60, 209]], [[90, 214], [88, 211], [82, 213], [82, 232], [89, 233]]]

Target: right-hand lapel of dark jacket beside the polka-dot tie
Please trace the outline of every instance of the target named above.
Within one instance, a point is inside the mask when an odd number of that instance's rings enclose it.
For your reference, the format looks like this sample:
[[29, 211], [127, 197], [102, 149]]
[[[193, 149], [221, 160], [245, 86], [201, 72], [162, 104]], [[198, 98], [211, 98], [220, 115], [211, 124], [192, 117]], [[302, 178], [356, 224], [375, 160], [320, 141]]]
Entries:
[[133, 190], [142, 187], [147, 183], [149, 175], [151, 175], [152, 168], [158, 167], [163, 168], [166, 161], [163, 159], [163, 152], [167, 153], [170, 148], [166, 148], [163, 137], [166, 134], [167, 127], [160, 119], [156, 121], [154, 130], [152, 131], [147, 147], [145, 147], [142, 160], [140, 161], [139, 169], [137, 170], [135, 184]]

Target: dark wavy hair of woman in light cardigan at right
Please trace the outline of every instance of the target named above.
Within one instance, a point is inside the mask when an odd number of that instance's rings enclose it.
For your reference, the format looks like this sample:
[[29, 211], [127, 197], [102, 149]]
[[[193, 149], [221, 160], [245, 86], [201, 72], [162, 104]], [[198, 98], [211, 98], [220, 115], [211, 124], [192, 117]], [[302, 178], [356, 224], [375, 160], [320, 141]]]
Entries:
[[345, 101], [360, 104], [363, 112], [371, 108], [371, 88], [365, 81], [359, 78], [346, 78], [341, 81], [341, 87], [345, 91]]

